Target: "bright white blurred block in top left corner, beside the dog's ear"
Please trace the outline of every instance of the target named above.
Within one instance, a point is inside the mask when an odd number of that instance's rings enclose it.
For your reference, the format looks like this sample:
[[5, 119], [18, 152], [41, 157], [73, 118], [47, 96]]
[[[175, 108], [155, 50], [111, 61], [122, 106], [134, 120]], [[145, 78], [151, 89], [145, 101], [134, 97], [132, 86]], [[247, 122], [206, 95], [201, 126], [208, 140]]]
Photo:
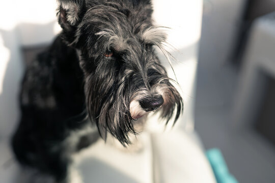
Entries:
[[23, 46], [48, 43], [56, 34], [56, 9], [56, 0], [2, 1], [0, 30], [16, 29], [18, 42]]

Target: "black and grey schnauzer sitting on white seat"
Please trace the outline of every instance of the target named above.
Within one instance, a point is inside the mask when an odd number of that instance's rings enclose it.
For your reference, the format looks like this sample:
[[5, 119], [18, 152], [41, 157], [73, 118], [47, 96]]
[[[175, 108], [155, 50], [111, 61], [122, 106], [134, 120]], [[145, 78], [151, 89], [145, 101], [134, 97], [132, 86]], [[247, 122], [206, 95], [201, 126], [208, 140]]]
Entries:
[[170, 53], [149, 0], [58, 4], [62, 32], [26, 68], [12, 148], [21, 165], [69, 182], [72, 154], [99, 137], [127, 147], [148, 113], [175, 123], [183, 101], [156, 55]]

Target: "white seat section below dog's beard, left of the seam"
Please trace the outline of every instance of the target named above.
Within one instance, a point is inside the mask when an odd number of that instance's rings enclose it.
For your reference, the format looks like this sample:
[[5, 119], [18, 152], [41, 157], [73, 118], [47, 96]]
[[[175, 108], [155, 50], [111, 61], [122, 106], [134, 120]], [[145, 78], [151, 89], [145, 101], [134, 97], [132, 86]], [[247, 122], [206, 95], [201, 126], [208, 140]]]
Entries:
[[152, 144], [148, 133], [138, 137], [144, 148], [138, 152], [105, 144], [99, 140], [76, 156], [84, 182], [153, 182]]

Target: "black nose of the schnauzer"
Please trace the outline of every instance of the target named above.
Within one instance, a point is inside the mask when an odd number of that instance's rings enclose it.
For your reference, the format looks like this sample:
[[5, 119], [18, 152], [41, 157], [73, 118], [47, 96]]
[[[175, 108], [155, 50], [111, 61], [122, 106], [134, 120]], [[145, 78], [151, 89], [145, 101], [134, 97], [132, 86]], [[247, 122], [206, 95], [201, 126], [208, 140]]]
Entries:
[[153, 99], [142, 99], [140, 105], [146, 112], [148, 112], [157, 109], [163, 104], [163, 102], [164, 100], [162, 96], [157, 96]]

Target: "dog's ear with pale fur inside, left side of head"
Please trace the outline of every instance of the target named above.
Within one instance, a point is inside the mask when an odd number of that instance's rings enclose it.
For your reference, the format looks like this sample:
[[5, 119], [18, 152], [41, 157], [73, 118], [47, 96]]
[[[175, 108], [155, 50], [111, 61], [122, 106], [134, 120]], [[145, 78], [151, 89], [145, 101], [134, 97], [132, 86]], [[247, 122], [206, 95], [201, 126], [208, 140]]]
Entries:
[[63, 28], [62, 37], [68, 44], [75, 38], [75, 31], [86, 10], [85, 0], [58, 0], [58, 22]]

